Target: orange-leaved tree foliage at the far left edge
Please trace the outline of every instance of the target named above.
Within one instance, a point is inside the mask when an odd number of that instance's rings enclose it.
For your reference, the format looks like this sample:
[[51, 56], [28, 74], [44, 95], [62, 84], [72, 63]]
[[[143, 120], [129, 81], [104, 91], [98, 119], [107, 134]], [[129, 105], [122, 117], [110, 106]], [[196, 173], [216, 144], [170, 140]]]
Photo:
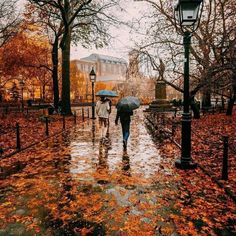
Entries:
[[50, 83], [49, 45], [41, 36], [21, 31], [0, 49], [0, 58], [5, 83], [19, 79], [28, 83], [33, 78], [38, 78], [42, 91]]

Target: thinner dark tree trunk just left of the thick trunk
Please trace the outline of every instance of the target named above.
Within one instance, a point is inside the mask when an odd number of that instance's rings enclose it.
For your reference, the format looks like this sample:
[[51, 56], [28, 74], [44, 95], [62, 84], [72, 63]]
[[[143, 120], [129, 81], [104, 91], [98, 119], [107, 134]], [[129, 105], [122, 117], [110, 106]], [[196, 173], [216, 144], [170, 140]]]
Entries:
[[55, 37], [52, 47], [52, 79], [53, 79], [53, 103], [54, 107], [58, 109], [59, 102], [59, 88], [58, 88], [58, 37]]

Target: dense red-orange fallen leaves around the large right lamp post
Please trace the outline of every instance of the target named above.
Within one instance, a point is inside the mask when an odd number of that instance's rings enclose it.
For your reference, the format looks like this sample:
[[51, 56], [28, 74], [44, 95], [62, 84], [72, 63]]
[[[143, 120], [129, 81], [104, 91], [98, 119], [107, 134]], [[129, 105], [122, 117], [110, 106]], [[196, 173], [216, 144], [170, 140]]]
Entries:
[[[221, 178], [223, 142], [222, 136], [229, 136], [229, 145], [235, 143], [236, 111], [232, 117], [225, 114], [207, 115], [192, 122], [192, 158], [202, 165], [213, 177]], [[176, 140], [181, 140], [181, 129], [175, 132]], [[162, 165], [173, 168], [175, 159], [179, 159], [180, 150], [169, 140], [158, 145], [164, 156]], [[231, 147], [232, 147], [231, 146]], [[236, 190], [236, 154], [229, 149], [229, 180], [221, 181], [224, 187]], [[171, 163], [171, 164], [169, 164]], [[172, 165], [172, 167], [171, 167]], [[196, 170], [178, 170], [176, 178], [179, 188], [179, 198], [173, 206], [170, 218], [177, 226], [177, 232], [182, 235], [224, 235], [235, 234], [235, 202], [227, 196], [212, 179]], [[169, 181], [174, 181], [169, 176]]]

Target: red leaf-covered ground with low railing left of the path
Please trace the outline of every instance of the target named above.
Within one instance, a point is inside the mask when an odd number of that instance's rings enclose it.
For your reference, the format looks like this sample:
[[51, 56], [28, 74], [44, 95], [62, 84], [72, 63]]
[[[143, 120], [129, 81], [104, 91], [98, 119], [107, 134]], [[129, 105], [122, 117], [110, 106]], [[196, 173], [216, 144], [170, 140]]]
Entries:
[[[9, 157], [21, 150], [64, 131], [67, 127], [76, 125], [78, 121], [89, 119], [89, 108], [85, 117], [85, 108], [73, 112], [73, 116], [28, 114], [25, 123], [13, 122], [11, 125], [0, 126], [0, 159]], [[9, 119], [9, 117], [8, 117]], [[37, 137], [35, 137], [37, 133]], [[35, 140], [36, 139], [36, 140]]]

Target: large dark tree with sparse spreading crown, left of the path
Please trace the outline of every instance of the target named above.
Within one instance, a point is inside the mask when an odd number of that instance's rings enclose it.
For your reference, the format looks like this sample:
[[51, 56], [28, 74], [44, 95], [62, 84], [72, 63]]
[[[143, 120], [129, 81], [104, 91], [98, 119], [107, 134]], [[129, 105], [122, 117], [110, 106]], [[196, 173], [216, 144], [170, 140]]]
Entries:
[[[65, 114], [71, 114], [70, 107], [70, 46], [73, 38], [89, 39], [89, 35], [101, 35], [100, 42], [106, 42], [108, 38], [107, 28], [114, 23], [114, 18], [108, 13], [117, 5], [116, 1], [72, 1], [72, 0], [30, 0], [39, 7], [49, 6], [58, 11], [63, 24], [63, 33], [60, 40], [62, 51], [62, 110]], [[73, 35], [73, 31], [77, 34]], [[82, 34], [78, 34], [82, 33]], [[94, 39], [94, 38], [93, 38]], [[93, 41], [94, 43], [95, 41]], [[102, 46], [101, 45], [98, 46]], [[96, 45], [96, 43], [95, 43]]]

